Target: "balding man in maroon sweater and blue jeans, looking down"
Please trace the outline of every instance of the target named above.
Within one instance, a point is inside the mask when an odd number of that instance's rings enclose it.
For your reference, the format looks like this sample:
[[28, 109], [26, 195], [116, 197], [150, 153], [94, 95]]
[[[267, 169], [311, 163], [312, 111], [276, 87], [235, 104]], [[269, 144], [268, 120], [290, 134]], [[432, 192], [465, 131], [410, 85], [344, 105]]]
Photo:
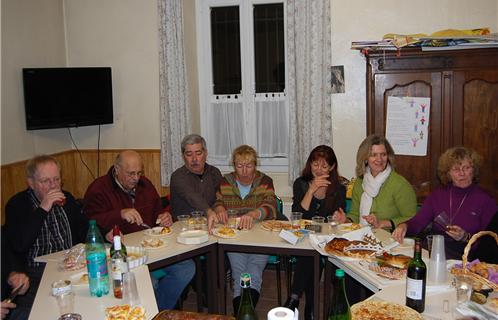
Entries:
[[[156, 188], [143, 175], [142, 157], [135, 151], [121, 152], [106, 175], [88, 187], [83, 211], [97, 224], [110, 230], [119, 226], [124, 234], [153, 226], [170, 226], [171, 214], [162, 206]], [[159, 310], [172, 309], [195, 274], [195, 264], [185, 260], [162, 269], [152, 277]]]

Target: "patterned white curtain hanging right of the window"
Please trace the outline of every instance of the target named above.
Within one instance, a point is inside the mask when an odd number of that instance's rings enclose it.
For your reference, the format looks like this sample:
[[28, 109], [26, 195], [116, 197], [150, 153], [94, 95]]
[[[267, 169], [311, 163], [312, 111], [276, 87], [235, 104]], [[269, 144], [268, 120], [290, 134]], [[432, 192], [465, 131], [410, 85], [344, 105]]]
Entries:
[[332, 145], [330, 0], [287, 0], [289, 182], [311, 150]]

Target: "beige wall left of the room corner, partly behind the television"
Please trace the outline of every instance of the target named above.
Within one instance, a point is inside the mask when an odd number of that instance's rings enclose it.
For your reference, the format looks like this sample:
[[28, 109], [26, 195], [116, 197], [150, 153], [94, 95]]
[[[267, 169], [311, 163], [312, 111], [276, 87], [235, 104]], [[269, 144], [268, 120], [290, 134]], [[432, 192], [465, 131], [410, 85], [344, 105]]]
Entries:
[[27, 131], [23, 67], [64, 66], [62, 0], [2, 0], [1, 163], [71, 149], [67, 130]]

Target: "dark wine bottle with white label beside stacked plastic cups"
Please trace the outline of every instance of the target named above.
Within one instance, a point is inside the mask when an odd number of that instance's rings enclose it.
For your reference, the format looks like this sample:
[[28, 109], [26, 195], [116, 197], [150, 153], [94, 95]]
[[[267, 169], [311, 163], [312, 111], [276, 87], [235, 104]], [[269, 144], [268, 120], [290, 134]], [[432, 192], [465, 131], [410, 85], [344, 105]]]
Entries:
[[427, 266], [422, 260], [420, 239], [415, 239], [413, 259], [408, 264], [406, 273], [406, 305], [422, 313], [425, 309], [425, 286]]

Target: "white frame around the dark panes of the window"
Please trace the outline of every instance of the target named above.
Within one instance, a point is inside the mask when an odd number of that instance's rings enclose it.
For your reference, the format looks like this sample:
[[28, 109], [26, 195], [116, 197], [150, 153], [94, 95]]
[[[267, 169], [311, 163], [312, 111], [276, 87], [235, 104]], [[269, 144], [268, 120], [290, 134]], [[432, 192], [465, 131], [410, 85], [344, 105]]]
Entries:
[[[198, 81], [199, 81], [199, 105], [200, 105], [200, 125], [201, 134], [209, 139], [206, 122], [208, 119], [207, 104], [214, 99], [212, 94], [213, 78], [212, 78], [212, 56], [211, 56], [211, 24], [210, 24], [210, 8], [224, 6], [239, 6], [240, 19], [240, 54], [241, 54], [241, 69], [242, 69], [242, 92], [239, 99], [244, 105], [244, 125], [246, 128], [251, 128], [250, 124], [256, 124], [256, 107], [254, 93], [255, 89], [255, 68], [254, 68], [254, 42], [244, 41], [244, 39], [254, 39], [254, 23], [253, 14], [249, 14], [254, 5], [257, 4], [272, 4], [283, 3], [284, 13], [286, 12], [286, 3], [284, 0], [196, 0], [196, 33], [197, 33], [197, 66], [198, 66]], [[246, 14], [245, 14], [246, 13]], [[284, 19], [284, 59], [287, 61], [287, 19]], [[252, 72], [244, 72], [250, 70]], [[288, 66], [285, 66], [285, 87], [288, 87], [287, 80]], [[208, 85], [206, 85], [206, 83]], [[284, 91], [285, 92], [285, 91]], [[287, 98], [286, 106], [288, 108]], [[289, 112], [287, 112], [287, 123], [289, 123]], [[290, 129], [289, 129], [290, 130]], [[248, 144], [255, 145], [256, 130], [247, 129], [244, 132], [245, 140]], [[289, 143], [285, 141], [285, 143]], [[209, 150], [208, 150], [209, 151]], [[260, 158], [259, 170], [266, 172], [288, 172], [288, 157], [280, 158]], [[230, 159], [219, 160], [208, 157], [208, 162], [217, 166], [221, 171], [232, 171], [233, 167], [229, 163]]]

